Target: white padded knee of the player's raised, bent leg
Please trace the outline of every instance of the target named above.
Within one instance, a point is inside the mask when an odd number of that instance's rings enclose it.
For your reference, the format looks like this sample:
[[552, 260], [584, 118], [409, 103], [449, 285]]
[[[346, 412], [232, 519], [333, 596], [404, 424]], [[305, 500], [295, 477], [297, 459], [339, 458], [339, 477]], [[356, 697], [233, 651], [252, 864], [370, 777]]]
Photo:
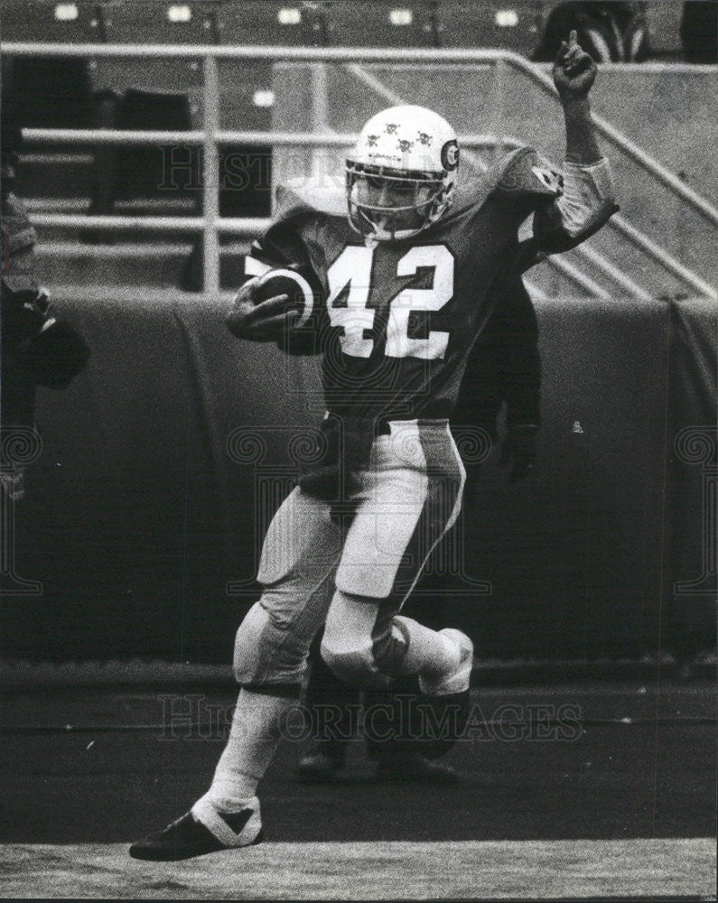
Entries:
[[375, 600], [352, 597], [341, 591], [335, 593], [321, 652], [331, 672], [340, 680], [365, 686], [387, 685], [386, 656], [378, 654], [385, 644], [374, 636], [377, 616]]

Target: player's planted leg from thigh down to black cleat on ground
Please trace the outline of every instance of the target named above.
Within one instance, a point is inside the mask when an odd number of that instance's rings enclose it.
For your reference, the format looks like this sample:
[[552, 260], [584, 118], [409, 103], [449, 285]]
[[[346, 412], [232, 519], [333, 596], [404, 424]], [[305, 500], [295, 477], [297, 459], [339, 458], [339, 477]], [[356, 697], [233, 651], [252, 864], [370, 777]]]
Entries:
[[237, 632], [234, 669], [242, 689], [210, 788], [187, 815], [133, 844], [130, 855], [185, 859], [261, 839], [256, 787], [298, 702], [309, 647], [331, 601], [341, 538], [327, 503], [300, 489], [285, 499], [262, 549], [262, 597]]

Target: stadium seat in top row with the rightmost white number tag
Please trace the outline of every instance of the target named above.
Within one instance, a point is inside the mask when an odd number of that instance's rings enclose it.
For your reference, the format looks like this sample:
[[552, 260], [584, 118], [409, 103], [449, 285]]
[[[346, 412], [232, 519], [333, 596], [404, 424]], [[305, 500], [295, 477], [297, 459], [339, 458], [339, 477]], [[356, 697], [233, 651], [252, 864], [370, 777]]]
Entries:
[[444, 0], [437, 18], [442, 47], [503, 48], [528, 56], [541, 36], [542, 4]]

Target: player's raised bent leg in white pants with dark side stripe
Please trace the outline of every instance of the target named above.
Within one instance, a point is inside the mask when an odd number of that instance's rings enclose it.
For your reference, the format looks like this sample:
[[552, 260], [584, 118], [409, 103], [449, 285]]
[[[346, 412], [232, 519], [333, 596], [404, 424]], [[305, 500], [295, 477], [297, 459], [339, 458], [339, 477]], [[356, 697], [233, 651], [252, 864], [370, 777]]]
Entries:
[[428, 695], [468, 690], [471, 640], [398, 612], [434, 545], [458, 517], [465, 471], [443, 422], [394, 422], [360, 475], [322, 655], [345, 680], [386, 685], [418, 675]]

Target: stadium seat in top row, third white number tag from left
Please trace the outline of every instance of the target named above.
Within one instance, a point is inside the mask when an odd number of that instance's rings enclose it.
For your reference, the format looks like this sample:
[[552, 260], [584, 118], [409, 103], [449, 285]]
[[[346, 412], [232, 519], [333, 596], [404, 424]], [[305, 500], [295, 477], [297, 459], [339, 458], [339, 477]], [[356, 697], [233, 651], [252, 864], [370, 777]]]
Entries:
[[222, 4], [217, 19], [223, 44], [306, 46], [324, 40], [320, 16], [299, 0]]

